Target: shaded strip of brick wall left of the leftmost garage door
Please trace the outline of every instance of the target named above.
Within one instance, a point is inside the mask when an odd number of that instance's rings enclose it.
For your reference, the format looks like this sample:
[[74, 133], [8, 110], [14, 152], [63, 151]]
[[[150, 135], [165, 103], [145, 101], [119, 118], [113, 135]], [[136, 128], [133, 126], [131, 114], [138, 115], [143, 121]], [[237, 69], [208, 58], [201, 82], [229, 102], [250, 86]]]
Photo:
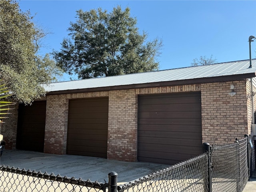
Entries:
[[11, 106], [12, 108], [14, 108], [13, 110], [10, 110], [12, 114], [6, 115], [6, 117], [9, 118], [4, 119], [4, 123], [0, 123], [0, 133], [4, 136], [6, 149], [16, 148], [18, 106], [19, 104]]

